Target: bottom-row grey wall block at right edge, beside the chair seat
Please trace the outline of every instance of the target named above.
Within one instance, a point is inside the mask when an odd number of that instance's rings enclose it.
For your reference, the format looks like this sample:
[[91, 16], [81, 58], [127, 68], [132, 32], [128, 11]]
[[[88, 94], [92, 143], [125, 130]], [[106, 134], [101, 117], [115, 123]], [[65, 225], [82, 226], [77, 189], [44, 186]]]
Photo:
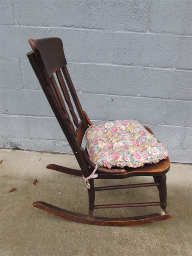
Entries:
[[169, 149], [170, 160], [176, 163], [192, 163], [192, 151], [181, 148]]

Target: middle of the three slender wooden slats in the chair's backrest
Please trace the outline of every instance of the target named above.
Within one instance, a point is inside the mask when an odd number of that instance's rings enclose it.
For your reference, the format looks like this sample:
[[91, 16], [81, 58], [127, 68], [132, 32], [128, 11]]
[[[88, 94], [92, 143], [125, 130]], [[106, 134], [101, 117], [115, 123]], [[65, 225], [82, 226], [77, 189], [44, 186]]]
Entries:
[[74, 111], [74, 108], [73, 108], [73, 105], [72, 105], [72, 102], [71, 102], [71, 99], [70, 99], [70, 95], [68, 93], [67, 86], [65, 84], [65, 81], [64, 81], [64, 78], [62, 76], [61, 70], [56, 71], [56, 76], [57, 76], [58, 82], [60, 84], [62, 93], [64, 95], [65, 101], [67, 102], [67, 105], [69, 107], [69, 111], [70, 111], [71, 116], [73, 118], [73, 122], [76, 125], [76, 127], [79, 127], [78, 118], [77, 118], [76, 113]]

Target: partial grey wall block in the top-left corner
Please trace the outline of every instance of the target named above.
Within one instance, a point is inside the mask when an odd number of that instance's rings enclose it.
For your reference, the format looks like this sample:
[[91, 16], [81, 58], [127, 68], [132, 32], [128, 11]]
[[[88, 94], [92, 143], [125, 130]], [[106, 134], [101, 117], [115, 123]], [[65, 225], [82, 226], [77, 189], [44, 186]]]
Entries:
[[12, 1], [1, 1], [0, 5], [0, 24], [14, 25], [15, 19]]

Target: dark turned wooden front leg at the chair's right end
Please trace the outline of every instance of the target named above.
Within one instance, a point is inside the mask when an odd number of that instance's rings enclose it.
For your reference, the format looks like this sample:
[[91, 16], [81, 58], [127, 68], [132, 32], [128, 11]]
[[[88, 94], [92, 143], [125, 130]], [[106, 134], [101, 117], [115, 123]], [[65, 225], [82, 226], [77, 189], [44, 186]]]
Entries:
[[163, 211], [166, 210], [167, 206], [167, 187], [166, 187], [166, 175], [157, 176], [157, 180], [160, 183], [157, 188], [159, 189], [160, 207]]

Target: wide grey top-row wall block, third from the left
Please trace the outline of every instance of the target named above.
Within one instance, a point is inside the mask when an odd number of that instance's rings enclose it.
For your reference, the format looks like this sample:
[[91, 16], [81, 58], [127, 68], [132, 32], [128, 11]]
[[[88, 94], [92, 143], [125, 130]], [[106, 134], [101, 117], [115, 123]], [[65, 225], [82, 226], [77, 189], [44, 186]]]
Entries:
[[82, 26], [85, 28], [146, 31], [150, 0], [82, 1]]

